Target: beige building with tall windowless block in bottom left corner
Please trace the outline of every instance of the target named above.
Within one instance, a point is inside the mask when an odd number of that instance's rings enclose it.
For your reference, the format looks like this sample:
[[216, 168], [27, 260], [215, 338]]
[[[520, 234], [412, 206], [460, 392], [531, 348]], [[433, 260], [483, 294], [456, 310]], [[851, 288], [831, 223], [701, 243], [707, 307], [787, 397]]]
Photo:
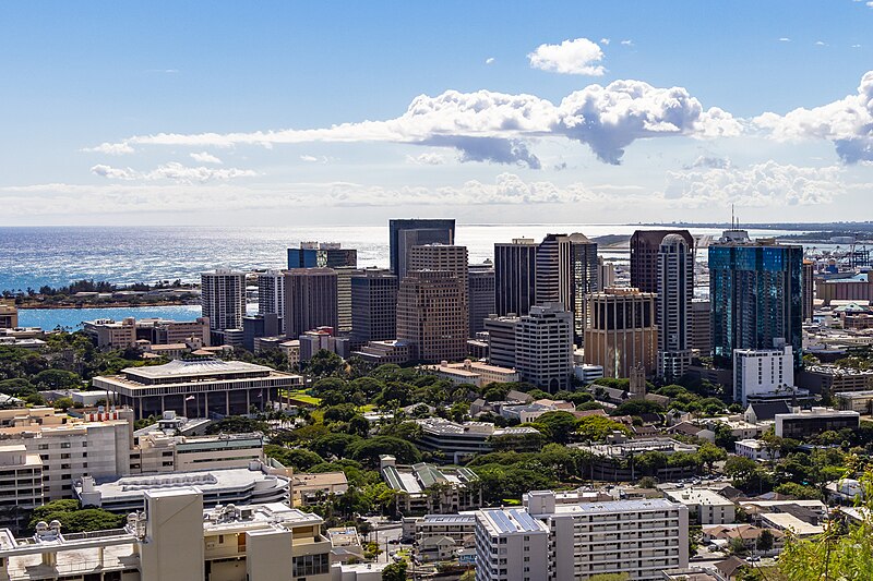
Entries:
[[322, 522], [283, 504], [204, 510], [196, 488], [151, 491], [123, 530], [68, 538], [41, 523], [31, 540], [0, 530], [0, 581], [330, 581]]

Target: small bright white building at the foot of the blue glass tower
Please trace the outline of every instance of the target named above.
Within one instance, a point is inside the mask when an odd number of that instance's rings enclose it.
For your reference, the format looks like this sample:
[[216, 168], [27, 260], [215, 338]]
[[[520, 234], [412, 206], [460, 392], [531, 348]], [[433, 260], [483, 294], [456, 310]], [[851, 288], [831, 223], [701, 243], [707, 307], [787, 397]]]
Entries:
[[733, 350], [733, 399], [790, 395], [794, 390], [794, 362], [791, 346], [781, 349]]

